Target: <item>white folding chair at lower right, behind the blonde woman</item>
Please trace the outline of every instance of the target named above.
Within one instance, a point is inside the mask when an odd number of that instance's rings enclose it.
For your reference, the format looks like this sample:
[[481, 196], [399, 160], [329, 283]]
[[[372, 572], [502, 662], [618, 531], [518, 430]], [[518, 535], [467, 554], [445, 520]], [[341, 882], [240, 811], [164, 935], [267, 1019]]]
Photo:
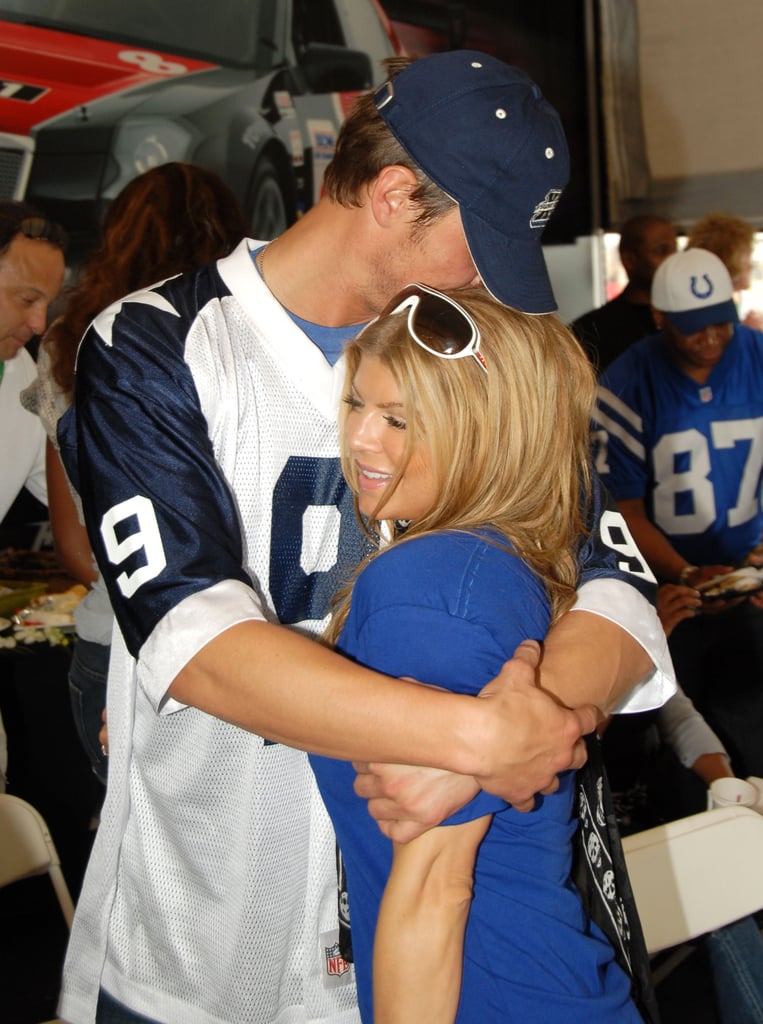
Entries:
[[635, 833], [623, 848], [649, 955], [682, 947], [655, 983], [687, 955], [689, 940], [763, 908], [763, 816], [748, 807]]

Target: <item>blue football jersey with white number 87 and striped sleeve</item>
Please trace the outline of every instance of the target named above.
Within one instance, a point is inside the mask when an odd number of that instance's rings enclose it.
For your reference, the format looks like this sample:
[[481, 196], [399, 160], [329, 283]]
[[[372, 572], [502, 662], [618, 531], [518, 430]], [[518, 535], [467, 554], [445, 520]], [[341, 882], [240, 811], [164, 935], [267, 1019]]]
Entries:
[[601, 377], [594, 440], [614, 498], [643, 498], [689, 562], [744, 558], [763, 528], [763, 335], [736, 327], [705, 385], [662, 335], [633, 345]]

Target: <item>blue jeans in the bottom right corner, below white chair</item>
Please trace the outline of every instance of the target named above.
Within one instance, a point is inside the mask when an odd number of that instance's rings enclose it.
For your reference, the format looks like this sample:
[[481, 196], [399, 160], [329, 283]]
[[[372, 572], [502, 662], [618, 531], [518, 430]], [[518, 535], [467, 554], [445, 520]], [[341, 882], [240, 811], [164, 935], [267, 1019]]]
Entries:
[[722, 1024], [763, 1021], [763, 938], [755, 919], [711, 932], [705, 948]]

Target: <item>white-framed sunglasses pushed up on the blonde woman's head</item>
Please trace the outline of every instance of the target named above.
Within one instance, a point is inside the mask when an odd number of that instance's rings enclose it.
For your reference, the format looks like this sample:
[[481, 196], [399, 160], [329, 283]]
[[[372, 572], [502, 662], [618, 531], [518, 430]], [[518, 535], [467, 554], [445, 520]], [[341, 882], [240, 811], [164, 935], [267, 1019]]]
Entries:
[[471, 355], [488, 373], [488, 364], [479, 351], [481, 339], [477, 325], [458, 302], [426, 285], [408, 285], [368, 327], [406, 311], [408, 333], [417, 345], [441, 359]]

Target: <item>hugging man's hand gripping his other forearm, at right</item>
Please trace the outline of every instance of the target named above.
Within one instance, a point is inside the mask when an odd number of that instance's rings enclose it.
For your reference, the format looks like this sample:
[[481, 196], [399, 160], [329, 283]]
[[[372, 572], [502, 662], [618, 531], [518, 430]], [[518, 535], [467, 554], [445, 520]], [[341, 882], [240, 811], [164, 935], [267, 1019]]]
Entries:
[[477, 782], [518, 811], [531, 811], [536, 794], [553, 793], [559, 772], [586, 763], [583, 736], [601, 718], [591, 705], [570, 711], [542, 690], [536, 684], [540, 656], [539, 644], [525, 640], [479, 693], [495, 711], [485, 734], [492, 759]]

